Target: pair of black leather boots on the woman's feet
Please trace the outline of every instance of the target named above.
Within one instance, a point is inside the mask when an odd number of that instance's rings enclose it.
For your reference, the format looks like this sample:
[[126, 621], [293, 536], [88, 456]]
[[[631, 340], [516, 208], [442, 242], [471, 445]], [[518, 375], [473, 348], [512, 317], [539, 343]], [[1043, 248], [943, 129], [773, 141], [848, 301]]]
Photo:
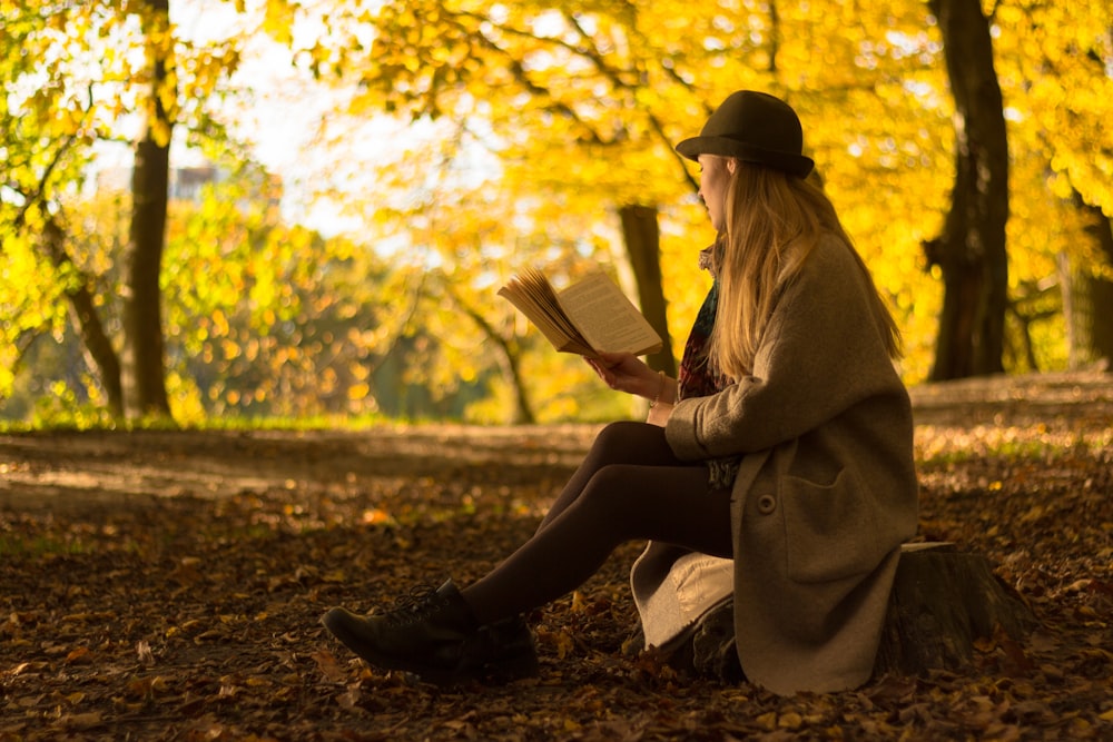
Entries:
[[521, 617], [479, 625], [450, 580], [421, 588], [382, 614], [332, 609], [321, 623], [368, 663], [433, 683], [526, 677], [538, 673], [533, 634]]

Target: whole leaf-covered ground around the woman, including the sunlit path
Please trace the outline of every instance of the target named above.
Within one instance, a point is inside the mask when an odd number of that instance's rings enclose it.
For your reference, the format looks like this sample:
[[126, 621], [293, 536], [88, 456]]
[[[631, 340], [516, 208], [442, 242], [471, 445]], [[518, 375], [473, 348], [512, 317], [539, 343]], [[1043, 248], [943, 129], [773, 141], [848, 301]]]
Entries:
[[914, 396], [920, 536], [985, 554], [1042, 625], [787, 699], [632, 649], [637, 544], [531, 617], [539, 679], [437, 689], [324, 635], [334, 604], [482, 574], [594, 427], [0, 437], [0, 740], [1113, 739], [1113, 379]]

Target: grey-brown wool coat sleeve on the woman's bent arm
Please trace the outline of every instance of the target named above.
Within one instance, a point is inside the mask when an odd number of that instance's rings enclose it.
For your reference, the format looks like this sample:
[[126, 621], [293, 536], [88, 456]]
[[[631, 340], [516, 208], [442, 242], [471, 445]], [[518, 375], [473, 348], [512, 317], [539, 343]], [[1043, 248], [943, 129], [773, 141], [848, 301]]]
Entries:
[[666, 427], [673, 452], [696, 461], [764, 451], [899, 387], [871, 290], [844, 243], [817, 245], [774, 309], [754, 373], [676, 406]]

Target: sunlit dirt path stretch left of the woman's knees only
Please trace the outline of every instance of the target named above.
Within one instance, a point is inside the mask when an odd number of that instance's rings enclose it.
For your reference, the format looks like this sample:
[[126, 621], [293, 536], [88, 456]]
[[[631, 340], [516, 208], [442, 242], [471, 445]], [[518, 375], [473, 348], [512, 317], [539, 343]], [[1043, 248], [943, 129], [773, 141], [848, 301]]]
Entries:
[[50, 432], [0, 436], [0, 507], [82, 508], [367, 479], [451, 477], [498, 465], [508, 484], [574, 467], [585, 425], [371, 431]]

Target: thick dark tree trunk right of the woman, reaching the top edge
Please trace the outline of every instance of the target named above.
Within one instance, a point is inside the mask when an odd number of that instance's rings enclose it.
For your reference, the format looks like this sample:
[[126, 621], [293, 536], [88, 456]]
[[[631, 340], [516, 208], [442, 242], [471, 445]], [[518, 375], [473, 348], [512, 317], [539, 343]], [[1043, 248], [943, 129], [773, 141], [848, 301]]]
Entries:
[[943, 270], [932, 380], [1004, 370], [1008, 144], [989, 24], [979, 0], [929, 0], [955, 98], [955, 186], [943, 234], [925, 244]]

